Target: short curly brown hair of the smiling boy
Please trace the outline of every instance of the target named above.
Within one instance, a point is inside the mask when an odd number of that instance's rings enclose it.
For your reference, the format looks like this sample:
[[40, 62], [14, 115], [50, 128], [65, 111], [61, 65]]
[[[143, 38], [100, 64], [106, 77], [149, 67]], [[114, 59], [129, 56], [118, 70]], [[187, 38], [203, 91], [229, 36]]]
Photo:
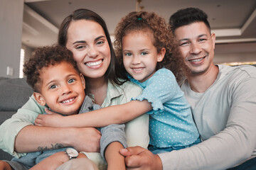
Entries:
[[23, 72], [26, 75], [27, 83], [33, 88], [33, 91], [41, 92], [41, 71], [50, 65], [60, 64], [60, 62], [68, 62], [73, 65], [74, 69], [79, 73], [78, 66], [73, 59], [73, 53], [66, 47], [60, 45], [39, 47], [34, 55], [23, 64]]

